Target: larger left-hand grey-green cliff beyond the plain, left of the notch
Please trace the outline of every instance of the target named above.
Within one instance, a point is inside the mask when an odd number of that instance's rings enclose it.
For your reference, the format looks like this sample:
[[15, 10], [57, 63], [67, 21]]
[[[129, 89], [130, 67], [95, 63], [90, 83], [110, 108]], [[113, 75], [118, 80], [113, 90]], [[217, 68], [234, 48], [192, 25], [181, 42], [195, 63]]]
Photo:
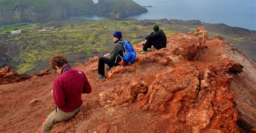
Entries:
[[0, 20], [21, 23], [92, 14], [90, 7], [93, 5], [91, 0], [0, 1]]

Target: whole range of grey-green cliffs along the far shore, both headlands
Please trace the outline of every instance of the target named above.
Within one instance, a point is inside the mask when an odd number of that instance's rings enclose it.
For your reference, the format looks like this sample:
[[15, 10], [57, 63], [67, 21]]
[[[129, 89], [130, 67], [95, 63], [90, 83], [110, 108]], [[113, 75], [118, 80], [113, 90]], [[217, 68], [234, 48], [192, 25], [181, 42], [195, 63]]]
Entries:
[[147, 12], [146, 8], [131, 0], [99, 1], [98, 4], [92, 0], [0, 1], [0, 23], [37, 22], [92, 14], [123, 18], [144, 12]]

